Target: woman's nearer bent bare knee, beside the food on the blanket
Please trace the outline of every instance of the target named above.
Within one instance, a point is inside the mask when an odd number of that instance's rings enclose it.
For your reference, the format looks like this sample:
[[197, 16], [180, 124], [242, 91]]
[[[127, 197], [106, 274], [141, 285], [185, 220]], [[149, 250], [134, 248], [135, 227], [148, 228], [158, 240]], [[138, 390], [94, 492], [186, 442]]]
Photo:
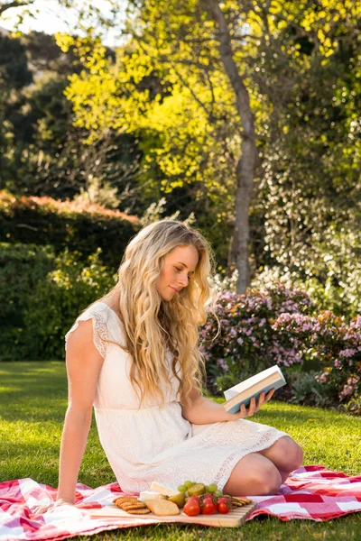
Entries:
[[236, 463], [223, 492], [230, 496], [262, 496], [274, 494], [281, 484], [281, 474], [271, 460], [250, 453]]

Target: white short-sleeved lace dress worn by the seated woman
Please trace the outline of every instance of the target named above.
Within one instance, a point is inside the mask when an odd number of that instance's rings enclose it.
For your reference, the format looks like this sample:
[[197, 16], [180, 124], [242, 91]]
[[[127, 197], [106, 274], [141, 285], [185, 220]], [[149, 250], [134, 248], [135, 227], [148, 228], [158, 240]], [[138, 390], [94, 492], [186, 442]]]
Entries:
[[139, 408], [129, 380], [130, 356], [118, 345], [124, 339], [120, 319], [106, 303], [97, 302], [79, 316], [69, 333], [88, 319], [93, 320], [94, 343], [104, 358], [94, 400], [97, 430], [123, 491], [144, 491], [152, 481], [177, 487], [187, 480], [216, 482], [223, 489], [245, 454], [262, 451], [287, 436], [245, 419], [191, 424], [181, 415], [174, 377], [163, 408], [154, 401]]

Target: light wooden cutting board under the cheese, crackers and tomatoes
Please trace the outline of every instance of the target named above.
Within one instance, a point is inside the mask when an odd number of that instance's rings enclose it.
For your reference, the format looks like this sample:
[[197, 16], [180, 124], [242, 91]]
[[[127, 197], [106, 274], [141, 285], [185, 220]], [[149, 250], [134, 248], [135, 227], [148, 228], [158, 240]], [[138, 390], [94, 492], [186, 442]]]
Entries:
[[125, 510], [119, 509], [116, 505], [106, 505], [102, 509], [94, 509], [90, 511], [90, 518], [109, 518], [109, 522], [116, 524], [116, 519], [123, 522], [126, 519], [134, 521], [134, 519], [141, 519], [142, 524], [146, 524], [147, 521], [170, 523], [181, 522], [184, 524], [201, 524], [203, 526], [218, 526], [218, 527], [239, 527], [245, 523], [245, 518], [255, 509], [255, 503], [249, 503], [240, 508], [231, 509], [227, 515], [221, 513], [215, 513], [214, 515], [197, 515], [197, 517], [188, 517], [185, 513], [180, 511], [180, 515], [174, 515], [171, 517], [158, 517], [153, 513], [148, 515], [129, 515]]

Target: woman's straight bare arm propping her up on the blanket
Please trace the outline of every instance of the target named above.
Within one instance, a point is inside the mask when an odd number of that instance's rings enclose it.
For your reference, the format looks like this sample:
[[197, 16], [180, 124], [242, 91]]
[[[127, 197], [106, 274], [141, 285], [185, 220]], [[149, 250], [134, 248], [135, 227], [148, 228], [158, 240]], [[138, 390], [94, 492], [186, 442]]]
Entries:
[[[79, 323], [67, 344], [69, 404], [60, 445], [58, 503], [74, 503], [80, 464], [87, 445], [92, 405], [103, 358], [93, 343], [92, 321]], [[51, 506], [34, 509], [41, 513]], [[44, 508], [44, 509], [43, 509]]]

